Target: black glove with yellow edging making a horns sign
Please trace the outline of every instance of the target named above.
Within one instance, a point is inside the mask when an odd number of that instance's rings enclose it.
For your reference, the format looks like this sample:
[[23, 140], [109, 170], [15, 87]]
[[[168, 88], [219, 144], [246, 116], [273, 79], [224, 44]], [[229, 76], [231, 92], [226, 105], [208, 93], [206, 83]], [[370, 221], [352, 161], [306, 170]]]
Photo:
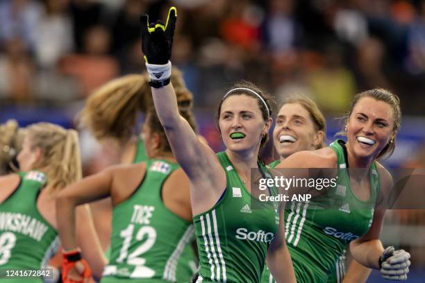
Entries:
[[167, 24], [160, 21], [149, 24], [149, 16], [140, 16], [142, 26], [142, 52], [144, 60], [153, 65], [165, 65], [172, 54], [174, 29], [176, 28], [177, 10], [169, 8]]

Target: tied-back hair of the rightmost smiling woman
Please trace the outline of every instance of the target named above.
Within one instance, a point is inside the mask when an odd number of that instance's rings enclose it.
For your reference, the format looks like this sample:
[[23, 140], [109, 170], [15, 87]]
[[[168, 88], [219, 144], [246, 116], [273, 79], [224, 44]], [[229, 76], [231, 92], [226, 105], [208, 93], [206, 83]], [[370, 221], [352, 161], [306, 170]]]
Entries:
[[[354, 96], [353, 102], [351, 102], [349, 112], [347, 112], [347, 114], [345, 114], [344, 117], [342, 117], [342, 120], [344, 121], [344, 127], [347, 127], [347, 123], [351, 116], [351, 112], [353, 112], [353, 109], [358, 103], [358, 101], [360, 101], [360, 98], [363, 98], [363, 97], [371, 97], [377, 101], [383, 101], [389, 104], [392, 108], [392, 117], [394, 118], [394, 126], [392, 127], [392, 134], [394, 135], [394, 138], [388, 141], [388, 143], [385, 145], [382, 151], [378, 154], [376, 159], [381, 157], [390, 157], [392, 153], [394, 153], [397, 132], [399, 131], [401, 126], [400, 98], [399, 96], [397, 96], [396, 94], [393, 94], [387, 89], [369, 89], [369, 90], [366, 90], [365, 92], [360, 92], [356, 94], [356, 96]], [[341, 130], [336, 135], [346, 136], [347, 131]]]

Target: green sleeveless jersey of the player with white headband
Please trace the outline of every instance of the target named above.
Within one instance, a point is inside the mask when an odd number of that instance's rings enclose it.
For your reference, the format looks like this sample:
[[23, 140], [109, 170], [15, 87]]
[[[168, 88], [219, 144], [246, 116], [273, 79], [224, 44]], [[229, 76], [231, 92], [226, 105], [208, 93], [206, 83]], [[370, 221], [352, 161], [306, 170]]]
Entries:
[[[217, 158], [226, 172], [226, 189], [213, 208], [193, 218], [197, 282], [260, 282], [267, 248], [278, 230], [278, 208], [249, 194], [226, 153]], [[270, 177], [265, 166], [260, 164], [260, 170]], [[276, 189], [270, 194], [276, 195]]]

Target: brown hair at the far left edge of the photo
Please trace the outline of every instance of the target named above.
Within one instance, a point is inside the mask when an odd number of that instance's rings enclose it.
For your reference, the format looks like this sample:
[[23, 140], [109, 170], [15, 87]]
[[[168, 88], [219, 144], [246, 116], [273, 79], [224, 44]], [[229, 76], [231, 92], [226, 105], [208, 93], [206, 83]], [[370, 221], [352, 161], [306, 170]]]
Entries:
[[10, 119], [0, 125], [0, 175], [14, 171], [12, 164], [21, 150], [24, 130], [16, 120]]

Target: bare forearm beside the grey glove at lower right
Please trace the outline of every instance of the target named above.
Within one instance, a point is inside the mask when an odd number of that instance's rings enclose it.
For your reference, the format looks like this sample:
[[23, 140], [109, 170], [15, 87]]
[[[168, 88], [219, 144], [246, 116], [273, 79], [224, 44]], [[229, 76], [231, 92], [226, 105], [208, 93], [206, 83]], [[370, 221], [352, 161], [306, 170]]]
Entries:
[[352, 241], [350, 243], [350, 250], [354, 259], [358, 261], [358, 264], [379, 269], [378, 260], [384, 249], [381, 241], [378, 239], [363, 242], [358, 240]]

